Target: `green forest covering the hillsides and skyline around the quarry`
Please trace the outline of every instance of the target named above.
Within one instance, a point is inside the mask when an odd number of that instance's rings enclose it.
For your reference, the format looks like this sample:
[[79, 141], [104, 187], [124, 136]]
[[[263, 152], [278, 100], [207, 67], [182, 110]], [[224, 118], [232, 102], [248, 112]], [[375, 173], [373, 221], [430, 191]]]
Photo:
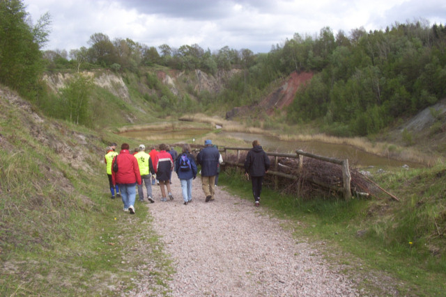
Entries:
[[[0, 83], [18, 90], [44, 110], [58, 100], [60, 106], [75, 105], [70, 98], [88, 97], [88, 91], [76, 92], [79, 86], [88, 90], [91, 82], [79, 77], [55, 98], [45, 94], [39, 81], [43, 72], [104, 68], [146, 75], [148, 86], [160, 90], [159, 98], [146, 97], [148, 102], [164, 102], [161, 107], [169, 105], [172, 112], [183, 111], [187, 102], [187, 111], [209, 113], [215, 106], [229, 110], [255, 104], [278, 79], [294, 71], [313, 72], [314, 78], [296, 94], [284, 121], [312, 122], [334, 136], [377, 133], [446, 95], [446, 27], [423, 20], [395, 23], [385, 31], [360, 28], [336, 35], [327, 26], [314, 35], [295, 33], [291, 40], [260, 54], [228, 46], [211, 51], [196, 44], [155, 48], [129, 38], [111, 40], [104, 33], [93, 33], [89, 47], [43, 51], [49, 23], [45, 14], [30, 24], [21, 1], [0, 2]], [[163, 90], [155, 76], [143, 74], [144, 67], [201, 70], [212, 75], [221, 70], [240, 72], [220, 93], [174, 95]], [[52, 109], [48, 113], [82, 124], [82, 117], [75, 120], [71, 111]], [[265, 120], [266, 115], [260, 116]]]

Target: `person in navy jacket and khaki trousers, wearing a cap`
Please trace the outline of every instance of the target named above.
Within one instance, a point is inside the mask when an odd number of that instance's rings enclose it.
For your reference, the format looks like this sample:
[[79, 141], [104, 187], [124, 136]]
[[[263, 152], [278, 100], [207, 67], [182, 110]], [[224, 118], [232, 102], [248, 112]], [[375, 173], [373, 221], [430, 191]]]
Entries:
[[213, 147], [210, 139], [204, 141], [204, 148], [197, 155], [197, 164], [201, 165], [201, 186], [206, 202], [215, 200], [215, 175], [219, 159], [217, 147]]

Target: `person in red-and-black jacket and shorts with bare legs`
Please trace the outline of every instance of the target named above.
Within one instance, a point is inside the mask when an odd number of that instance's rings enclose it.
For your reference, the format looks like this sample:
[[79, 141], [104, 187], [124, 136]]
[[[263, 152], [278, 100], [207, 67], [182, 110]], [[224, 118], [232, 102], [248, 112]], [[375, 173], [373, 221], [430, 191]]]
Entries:
[[[166, 152], [166, 149], [167, 145], [164, 143], [160, 144], [160, 153], [157, 154], [153, 160], [153, 168], [156, 173], [156, 179], [158, 182], [160, 182], [162, 202], [167, 201], [166, 188], [170, 200], [174, 200], [169, 183], [171, 172], [174, 169], [174, 160], [172, 159], [172, 156]], [[166, 188], [164, 188], [164, 186]]]

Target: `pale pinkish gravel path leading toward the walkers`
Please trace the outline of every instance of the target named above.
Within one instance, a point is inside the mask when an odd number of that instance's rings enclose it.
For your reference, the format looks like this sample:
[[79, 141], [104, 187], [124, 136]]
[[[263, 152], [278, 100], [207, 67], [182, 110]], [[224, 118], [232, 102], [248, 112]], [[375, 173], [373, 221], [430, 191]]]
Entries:
[[[192, 203], [183, 205], [180, 181], [172, 175], [175, 200], [147, 204], [153, 228], [176, 269], [171, 296], [359, 296], [355, 284], [332, 271], [320, 252], [293, 238], [282, 220], [218, 187], [204, 202], [199, 177]], [[141, 204], [139, 204], [141, 205]], [[145, 284], [130, 296], [156, 296]]]

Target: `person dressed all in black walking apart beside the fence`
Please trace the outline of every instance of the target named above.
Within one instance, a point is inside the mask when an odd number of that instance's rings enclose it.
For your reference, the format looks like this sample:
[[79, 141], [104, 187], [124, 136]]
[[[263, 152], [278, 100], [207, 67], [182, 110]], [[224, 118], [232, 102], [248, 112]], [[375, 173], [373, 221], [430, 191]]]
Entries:
[[270, 159], [263, 151], [259, 141], [252, 142], [252, 149], [246, 155], [245, 175], [249, 179], [251, 175], [252, 194], [254, 195], [255, 206], [260, 205], [260, 194], [262, 191], [263, 177], [270, 168]]

